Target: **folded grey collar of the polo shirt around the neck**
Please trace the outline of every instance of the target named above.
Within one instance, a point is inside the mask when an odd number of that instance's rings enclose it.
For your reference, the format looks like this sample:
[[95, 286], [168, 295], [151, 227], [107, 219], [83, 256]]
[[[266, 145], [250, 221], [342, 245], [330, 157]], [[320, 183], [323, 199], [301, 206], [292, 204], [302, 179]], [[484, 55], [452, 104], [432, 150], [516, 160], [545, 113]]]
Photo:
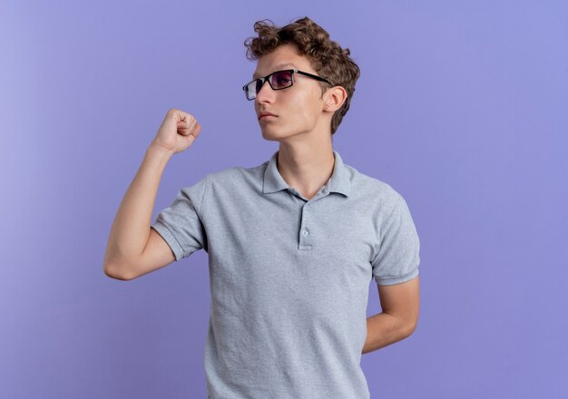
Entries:
[[[262, 192], [269, 194], [279, 190], [289, 189], [288, 183], [282, 178], [277, 167], [277, 158], [279, 151], [274, 152], [270, 158], [269, 164], [264, 170], [264, 180], [262, 185]], [[333, 173], [331, 178], [326, 183], [329, 192], [338, 192], [346, 197], [351, 192], [351, 181], [349, 179], [349, 171], [347, 170], [338, 151], [333, 151], [335, 157], [335, 164], [333, 166]]]

